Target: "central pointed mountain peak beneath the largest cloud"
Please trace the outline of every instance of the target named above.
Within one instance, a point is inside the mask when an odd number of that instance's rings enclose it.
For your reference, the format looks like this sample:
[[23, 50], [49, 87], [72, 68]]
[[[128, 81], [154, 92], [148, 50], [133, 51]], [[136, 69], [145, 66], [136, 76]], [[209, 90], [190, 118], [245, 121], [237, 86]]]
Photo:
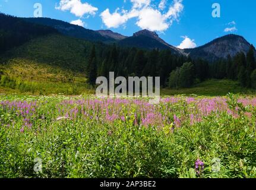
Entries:
[[121, 46], [139, 47], [143, 49], [170, 49], [173, 53], [184, 55], [181, 49], [171, 46], [161, 39], [157, 33], [141, 30], [118, 42]]

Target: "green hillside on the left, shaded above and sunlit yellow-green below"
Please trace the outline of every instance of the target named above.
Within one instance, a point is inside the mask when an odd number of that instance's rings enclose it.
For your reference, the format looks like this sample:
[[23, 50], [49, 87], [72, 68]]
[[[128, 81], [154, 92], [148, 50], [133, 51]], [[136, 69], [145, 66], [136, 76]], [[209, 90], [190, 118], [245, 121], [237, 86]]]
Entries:
[[89, 93], [86, 49], [90, 43], [59, 34], [30, 40], [1, 56], [0, 85], [21, 93]]

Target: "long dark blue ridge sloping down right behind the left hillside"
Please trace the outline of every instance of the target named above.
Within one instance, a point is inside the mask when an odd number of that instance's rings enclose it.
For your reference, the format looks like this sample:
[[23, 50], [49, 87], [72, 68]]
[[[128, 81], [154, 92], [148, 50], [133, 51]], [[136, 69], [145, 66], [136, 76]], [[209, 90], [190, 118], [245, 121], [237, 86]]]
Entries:
[[74, 24], [67, 23], [61, 20], [55, 20], [52, 18], [23, 18], [30, 23], [42, 24], [45, 26], [53, 27], [58, 30], [59, 33], [62, 33], [67, 36], [77, 37], [90, 41], [101, 41], [101, 42], [111, 42], [115, 41], [110, 37], [102, 36], [100, 33], [94, 30], [84, 29], [84, 27], [77, 26]]

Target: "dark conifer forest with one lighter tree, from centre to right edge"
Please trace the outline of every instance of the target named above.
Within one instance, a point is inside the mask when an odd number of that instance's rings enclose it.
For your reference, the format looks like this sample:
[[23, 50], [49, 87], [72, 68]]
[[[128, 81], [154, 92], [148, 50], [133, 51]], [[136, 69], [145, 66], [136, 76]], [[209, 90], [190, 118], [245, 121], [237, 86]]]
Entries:
[[176, 55], [170, 50], [142, 50], [135, 47], [93, 46], [87, 52], [89, 64], [87, 75], [90, 84], [96, 77], [108, 78], [109, 72], [115, 77], [150, 76], [160, 77], [162, 87], [191, 87], [210, 78], [236, 80], [242, 86], [256, 88], [255, 48], [251, 45], [248, 53], [239, 52], [233, 58], [208, 62]]

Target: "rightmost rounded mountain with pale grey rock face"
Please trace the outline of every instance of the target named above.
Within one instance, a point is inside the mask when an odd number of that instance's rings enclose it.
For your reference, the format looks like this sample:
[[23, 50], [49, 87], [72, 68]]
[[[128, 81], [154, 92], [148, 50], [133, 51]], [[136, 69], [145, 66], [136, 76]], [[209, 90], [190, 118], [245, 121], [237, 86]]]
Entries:
[[[235, 56], [236, 53], [247, 53], [251, 44], [244, 37], [235, 34], [229, 34], [219, 37], [206, 45], [194, 49], [185, 49], [191, 58], [202, 58], [207, 61], [216, 61], [220, 58], [226, 58], [228, 55]], [[256, 51], [255, 51], [256, 55]]]

